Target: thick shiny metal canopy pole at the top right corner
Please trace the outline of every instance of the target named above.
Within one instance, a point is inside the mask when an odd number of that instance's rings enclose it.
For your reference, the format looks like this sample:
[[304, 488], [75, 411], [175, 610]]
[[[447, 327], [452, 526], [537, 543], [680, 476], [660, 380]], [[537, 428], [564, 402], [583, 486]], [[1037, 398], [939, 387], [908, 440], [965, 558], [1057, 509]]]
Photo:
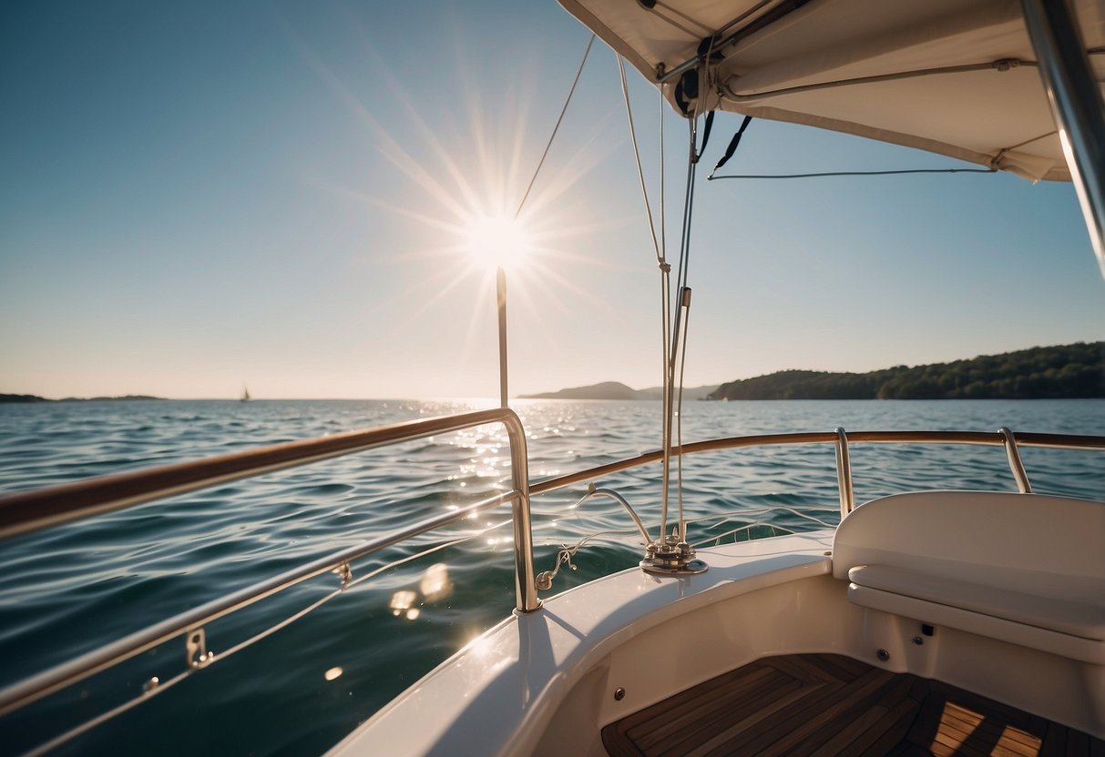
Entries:
[[1105, 276], [1105, 103], [1071, 3], [1021, 0], [1090, 243]]

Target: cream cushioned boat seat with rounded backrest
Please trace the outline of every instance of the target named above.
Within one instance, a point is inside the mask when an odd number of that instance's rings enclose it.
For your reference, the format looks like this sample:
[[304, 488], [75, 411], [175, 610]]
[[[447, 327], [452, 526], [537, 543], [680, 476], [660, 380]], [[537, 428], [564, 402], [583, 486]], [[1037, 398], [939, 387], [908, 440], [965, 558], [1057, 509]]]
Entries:
[[841, 523], [833, 575], [863, 607], [1105, 663], [1105, 503], [885, 497]]

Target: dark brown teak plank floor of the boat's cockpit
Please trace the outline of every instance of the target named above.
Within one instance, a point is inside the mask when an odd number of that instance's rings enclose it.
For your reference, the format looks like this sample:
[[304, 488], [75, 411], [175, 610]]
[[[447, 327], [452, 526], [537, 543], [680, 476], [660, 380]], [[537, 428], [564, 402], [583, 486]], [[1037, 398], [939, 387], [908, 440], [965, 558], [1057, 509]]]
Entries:
[[839, 654], [765, 658], [611, 723], [631, 755], [1103, 755], [1105, 742]]

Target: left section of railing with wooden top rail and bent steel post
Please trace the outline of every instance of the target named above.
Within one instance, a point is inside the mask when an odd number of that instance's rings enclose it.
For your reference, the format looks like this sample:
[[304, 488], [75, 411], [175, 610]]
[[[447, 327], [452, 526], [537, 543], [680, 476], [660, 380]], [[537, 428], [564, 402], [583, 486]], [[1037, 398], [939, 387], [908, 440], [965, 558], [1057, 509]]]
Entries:
[[[278, 576], [197, 607], [114, 643], [96, 649], [39, 675], [0, 691], [0, 715], [18, 710], [102, 670], [185, 633], [191, 641], [206, 623], [248, 607], [265, 597], [335, 569], [348, 569], [350, 561], [378, 552], [433, 529], [454, 523], [474, 512], [512, 503], [514, 521], [515, 599], [519, 611], [540, 607], [534, 580], [533, 529], [529, 514], [529, 461], [522, 420], [509, 408], [476, 411], [461, 415], [423, 418], [360, 431], [293, 441], [261, 449], [161, 466], [76, 481], [38, 491], [0, 498], [0, 537], [66, 523], [90, 515], [133, 507], [156, 499], [250, 478], [276, 470], [351, 455], [372, 447], [420, 439], [501, 423], [511, 448], [512, 489], [454, 512], [414, 523], [386, 536], [351, 546]], [[192, 664], [191, 658], [190, 663]], [[201, 667], [201, 660], [194, 667]]]

